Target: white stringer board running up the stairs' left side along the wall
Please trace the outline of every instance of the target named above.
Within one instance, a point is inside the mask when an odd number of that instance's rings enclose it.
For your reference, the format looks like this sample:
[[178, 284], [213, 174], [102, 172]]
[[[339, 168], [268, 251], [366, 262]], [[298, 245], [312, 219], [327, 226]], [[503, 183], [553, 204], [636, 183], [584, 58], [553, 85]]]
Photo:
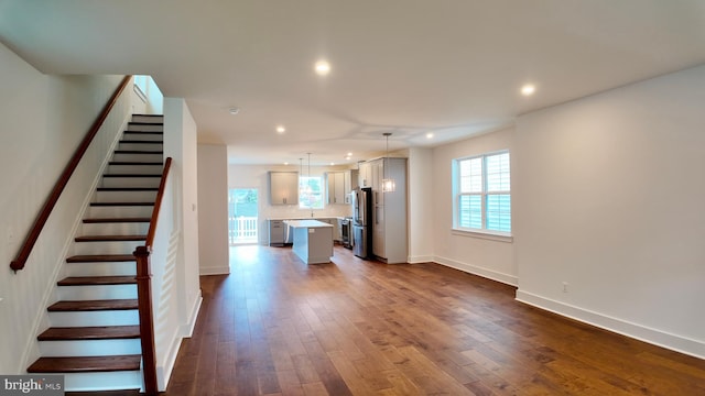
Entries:
[[[33, 334], [40, 334], [42, 331], [44, 331], [45, 329], [51, 327], [51, 321], [48, 319], [48, 312], [46, 311], [46, 307], [48, 307], [50, 305], [52, 305], [53, 302], [58, 300], [58, 287], [56, 285], [56, 283], [65, 275], [66, 273], [66, 257], [70, 255], [72, 249], [74, 248], [74, 239], [76, 238], [76, 235], [78, 235], [78, 233], [80, 232], [82, 226], [83, 226], [83, 219], [86, 216], [86, 213], [88, 212], [88, 209], [90, 207], [90, 202], [94, 199], [95, 195], [96, 195], [96, 188], [100, 185], [100, 183], [102, 182], [102, 175], [106, 172], [106, 169], [108, 168], [108, 163], [110, 162], [110, 158], [112, 157], [112, 153], [115, 152], [116, 147], [118, 147], [120, 140], [122, 139], [122, 134], [123, 131], [127, 130], [128, 124], [130, 122], [132, 114], [127, 113], [126, 117], [123, 118], [119, 129], [117, 129], [117, 132], [115, 133], [115, 138], [112, 140], [112, 142], [110, 143], [105, 158], [102, 160], [100, 167], [98, 168], [98, 170], [96, 172], [93, 183], [90, 184], [90, 187], [87, 189], [87, 194], [84, 197], [84, 200], [80, 205], [80, 209], [78, 210], [78, 216], [76, 217], [72, 228], [70, 228], [70, 232], [67, 233], [67, 235], [69, 235], [68, 238], [66, 238], [66, 240], [64, 241], [64, 244], [62, 246], [61, 250], [61, 254], [57, 255], [57, 262], [52, 266], [52, 268], [54, 268], [54, 271], [51, 273], [50, 278], [52, 279], [50, 287], [47, 287], [44, 290], [44, 294], [42, 296], [42, 304], [40, 307], [44, 307], [43, 309], [40, 309], [36, 312], [36, 316], [34, 318], [34, 321], [32, 323], [32, 329], [33, 329]], [[80, 166], [80, 165], [79, 165]], [[66, 186], [66, 188], [70, 187], [70, 182], [69, 184]], [[61, 198], [59, 198], [61, 200]], [[50, 220], [51, 221], [51, 218]], [[20, 358], [20, 361], [22, 362], [22, 367], [29, 367], [30, 364], [32, 362], [34, 362], [36, 359], [39, 359], [41, 356], [40, 353], [40, 343], [36, 339], [36, 337], [32, 337], [29, 338], [26, 341], [26, 344], [24, 345], [23, 349], [23, 353], [22, 356]]]

